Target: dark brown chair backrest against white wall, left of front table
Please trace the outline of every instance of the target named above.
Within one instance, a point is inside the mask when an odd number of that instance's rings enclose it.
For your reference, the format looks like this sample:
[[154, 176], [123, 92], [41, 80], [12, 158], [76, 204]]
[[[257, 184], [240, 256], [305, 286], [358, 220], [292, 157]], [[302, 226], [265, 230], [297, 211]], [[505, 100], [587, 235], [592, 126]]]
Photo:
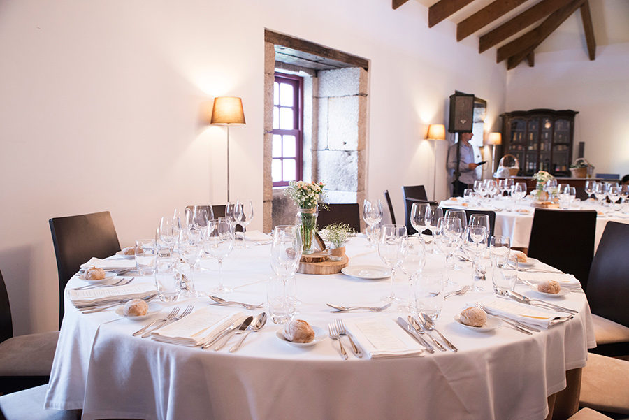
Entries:
[[109, 212], [55, 217], [48, 223], [57, 256], [61, 326], [64, 317], [64, 289], [68, 280], [92, 256], [106, 258], [120, 251], [120, 242]]

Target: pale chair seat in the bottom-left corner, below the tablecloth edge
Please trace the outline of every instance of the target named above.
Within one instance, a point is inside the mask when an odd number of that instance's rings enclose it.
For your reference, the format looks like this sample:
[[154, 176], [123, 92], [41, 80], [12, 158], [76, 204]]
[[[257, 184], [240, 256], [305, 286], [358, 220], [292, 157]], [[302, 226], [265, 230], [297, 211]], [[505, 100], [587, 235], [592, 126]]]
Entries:
[[0, 396], [0, 419], [6, 420], [79, 420], [82, 410], [47, 410], [43, 408], [48, 384]]

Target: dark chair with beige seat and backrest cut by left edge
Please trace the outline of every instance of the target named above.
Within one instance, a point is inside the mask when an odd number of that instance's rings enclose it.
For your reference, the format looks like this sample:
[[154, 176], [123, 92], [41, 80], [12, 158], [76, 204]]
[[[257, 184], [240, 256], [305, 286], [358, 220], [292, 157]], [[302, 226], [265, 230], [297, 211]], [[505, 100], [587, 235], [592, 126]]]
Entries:
[[11, 307], [0, 273], [0, 393], [48, 383], [59, 331], [13, 337]]

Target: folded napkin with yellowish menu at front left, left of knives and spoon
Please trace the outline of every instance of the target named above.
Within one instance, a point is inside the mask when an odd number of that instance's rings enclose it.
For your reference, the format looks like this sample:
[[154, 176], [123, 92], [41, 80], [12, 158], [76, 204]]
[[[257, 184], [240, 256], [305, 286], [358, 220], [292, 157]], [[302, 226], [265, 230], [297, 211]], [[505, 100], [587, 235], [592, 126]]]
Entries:
[[194, 347], [209, 342], [234, 322], [245, 320], [243, 312], [216, 312], [203, 308], [151, 334], [153, 340]]

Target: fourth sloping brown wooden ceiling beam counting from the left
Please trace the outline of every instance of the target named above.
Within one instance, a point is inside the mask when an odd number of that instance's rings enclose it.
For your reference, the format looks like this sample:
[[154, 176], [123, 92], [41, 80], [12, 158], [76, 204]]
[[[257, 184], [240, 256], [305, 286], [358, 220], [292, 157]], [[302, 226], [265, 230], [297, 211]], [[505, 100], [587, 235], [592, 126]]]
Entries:
[[544, 19], [551, 13], [569, 3], [569, 0], [542, 0], [535, 6], [524, 10], [500, 26], [492, 29], [479, 38], [478, 52], [484, 52], [498, 43], [505, 41], [519, 31], [530, 27], [538, 20]]

